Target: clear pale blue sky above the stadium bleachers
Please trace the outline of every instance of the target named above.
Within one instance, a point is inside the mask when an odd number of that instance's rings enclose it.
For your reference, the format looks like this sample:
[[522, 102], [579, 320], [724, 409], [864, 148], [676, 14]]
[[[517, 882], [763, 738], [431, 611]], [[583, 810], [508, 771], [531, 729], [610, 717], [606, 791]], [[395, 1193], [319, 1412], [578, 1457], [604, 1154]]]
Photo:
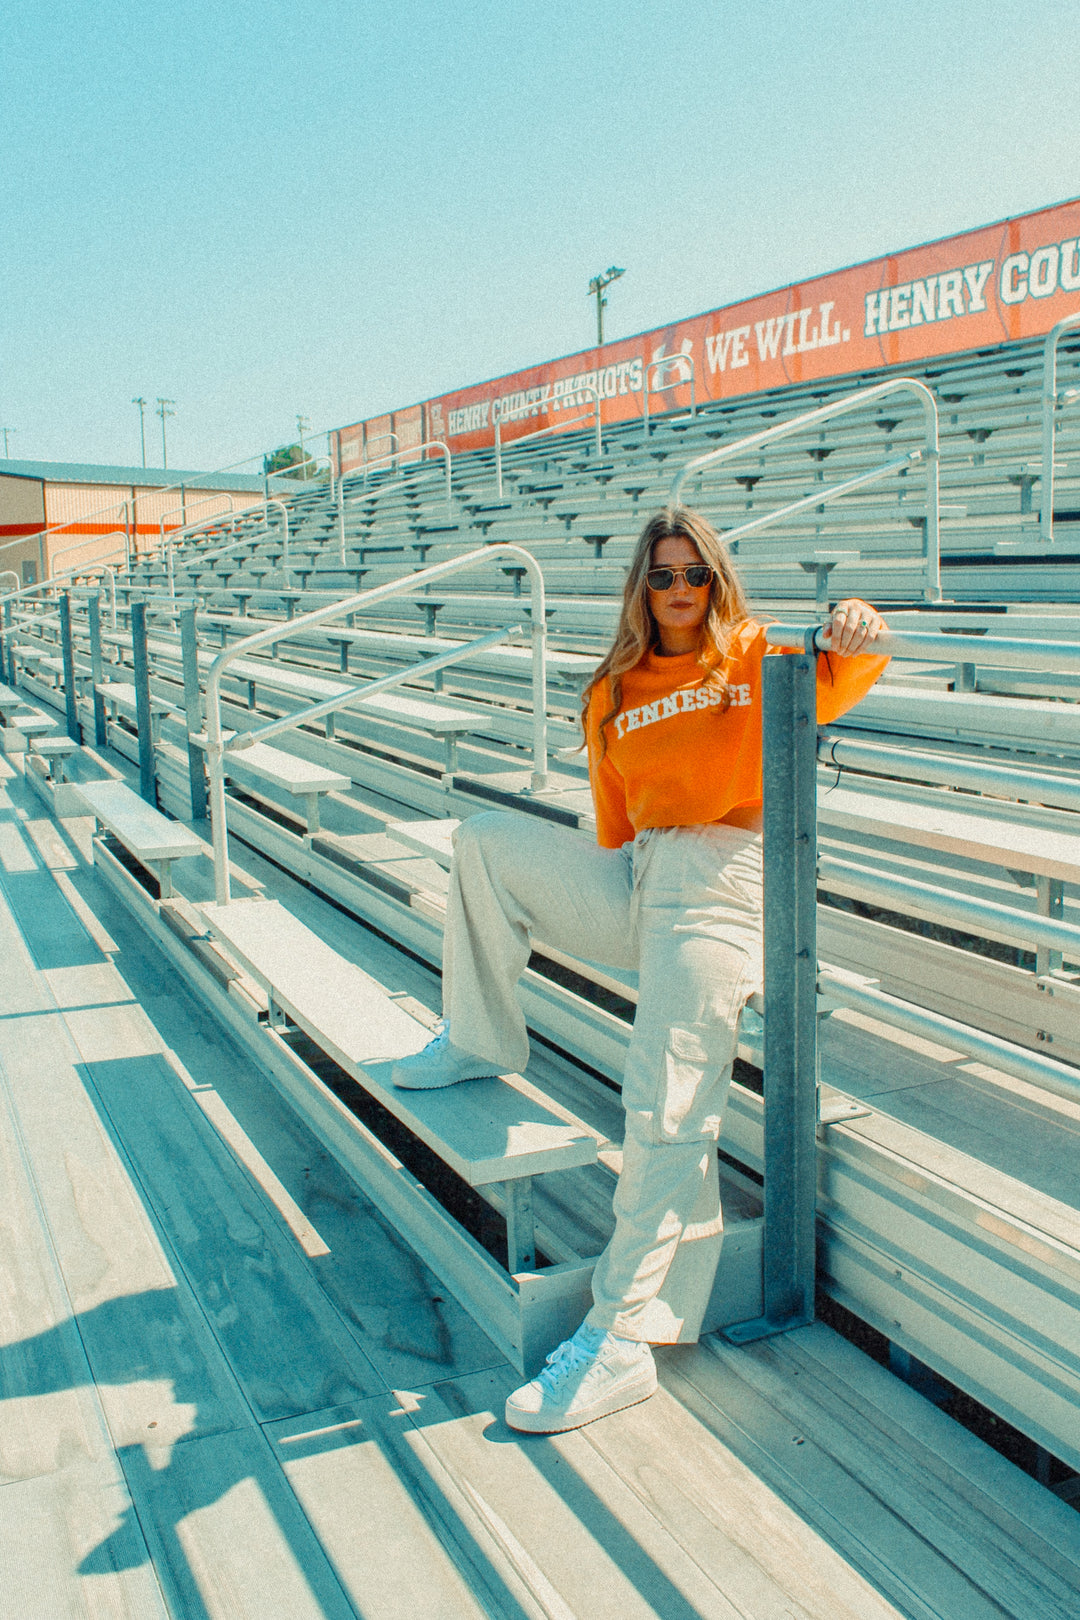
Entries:
[[[10, 454], [223, 465], [1080, 193], [1075, 0], [16, 0]], [[2, 452], [0, 441], [0, 452]], [[147, 460], [160, 424], [147, 418]]]

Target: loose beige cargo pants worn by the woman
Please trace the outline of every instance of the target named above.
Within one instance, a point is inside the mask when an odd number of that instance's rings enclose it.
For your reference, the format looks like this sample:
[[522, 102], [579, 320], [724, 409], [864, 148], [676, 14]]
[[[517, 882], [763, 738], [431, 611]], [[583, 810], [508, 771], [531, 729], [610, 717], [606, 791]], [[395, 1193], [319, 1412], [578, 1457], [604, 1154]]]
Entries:
[[743, 1003], [761, 988], [761, 838], [651, 828], [622, 849], [517, 813], [455, 836], [444, 1014], [457, 1047], [525, 1069], [515, 985], [536, 938], [638, 970], [615, 1231], [588, 1322], [654, 1345], [696, 1340], [724, 1221], [714, 1142]]

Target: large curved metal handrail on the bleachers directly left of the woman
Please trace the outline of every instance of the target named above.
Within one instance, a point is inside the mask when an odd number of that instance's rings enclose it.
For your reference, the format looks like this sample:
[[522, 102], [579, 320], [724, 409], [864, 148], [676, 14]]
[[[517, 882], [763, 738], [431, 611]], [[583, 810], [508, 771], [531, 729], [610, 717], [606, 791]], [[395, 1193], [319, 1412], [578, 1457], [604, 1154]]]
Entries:
[[[429, 585], [432, 580], [444, 578], [449, 573], [458, 573], [461, 569], [478, 567], [481, 564], [491, 564], [492, 559], [504, 556], [520, 557], [525, 564], [525, 572], [529, 577], [529, 601], [533, 609], [533, 791], [539, 791], [547, 782], [547, 612], [544, 601], [544, 575], [539, 570], [536, 557], [525, 551], [521, 546], [499, 544], [499, 546], [483, 546], [479, 551], [470, 551], [463, 557], [450, 557], [445, 562], [436, 562], [429, 569], [421, 569], [419, 573], [406, 573], [400, 580], [390, 580], [387, 585], [374, 585], [371, 590], [356, 591], [355, 596], [345, 596], [342, 601], [329, 603], [325, 608], [316, 608], [313, 612], [303, 614], [300, 619], [290, 619], [285, 625], [270, 625], [266, 630], [256, 630], [254, 635], [244, 637], [241, 642], [235, 642], [232, 646], [222, 648], [217, 654], [206, 677], [206, 770], [210, 778], [210, 831], [214, 839], [214, 893], [219, 906], [228, 906], [230, 902], [230, 885], [228, 885], [228, 829], [225, 826], [225, 744], [222, 739], [222, 676], [233, 659], [240, 658], [243, 653], [253, 653], [259, 646], [270, 646], [279, 642], [288, 642], [296, 635], [303, 635], [317, 624], [327, 624], [332, 619], [340, 619], [345, 614], [356, 612], [361, 608], [369, 606], [376, 601], [385, 601], [389, 596], [402, 596], [416, 591], [421, 585]], [[400, 679], [406, 680], [415, 676], [416, 666], [398, 671]], [[361, 687], [356, 690], [355, 697], [347, 697], [345, 703], [363, 701], [363, 695], [368, 688]]]

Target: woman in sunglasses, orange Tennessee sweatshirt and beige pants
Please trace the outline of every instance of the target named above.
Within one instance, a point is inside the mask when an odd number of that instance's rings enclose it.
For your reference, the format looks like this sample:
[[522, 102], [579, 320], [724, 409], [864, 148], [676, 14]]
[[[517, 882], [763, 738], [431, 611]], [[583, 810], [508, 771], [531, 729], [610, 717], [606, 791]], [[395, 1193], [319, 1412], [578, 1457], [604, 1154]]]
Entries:
[[[884, 620], [839, 603], [818, 659], [836, 719], [884, 658]], [[638, 970], [615, 1231], [593, 1309], [507, 1400], [515, 1429], [575, 1429], [656, 1388], [651, 1345], [693, 1343], [721, 1252], [716, 1139], [738, 1017], [761, 987], [761, 663], [771, 651], [730, 557], [670, 507], [638, 541], [615, 642], [583, 700], [597, 844], [538, 816], [478, 815], [455, 838], [444, 1032], [405, 1087], [523, 1069], [515, 985], [531, 940]], [[839, 654], [839, 656], [834, 656]]]

